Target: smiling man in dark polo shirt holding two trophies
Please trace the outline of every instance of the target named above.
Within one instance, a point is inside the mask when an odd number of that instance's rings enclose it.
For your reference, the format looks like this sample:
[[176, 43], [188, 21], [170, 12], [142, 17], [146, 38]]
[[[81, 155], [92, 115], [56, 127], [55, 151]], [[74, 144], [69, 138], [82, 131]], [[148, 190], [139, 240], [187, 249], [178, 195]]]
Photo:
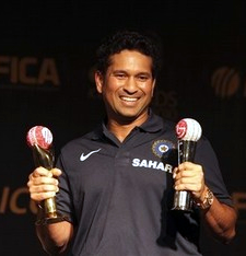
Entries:
[[[27, 183], [33, 200], [56, 196], [67, 217], [43, 223], [39, 209], [36, 231], [49, 254], [201, 255], [200, 221], [223, 243], [235, 236], [236, 212], [209, 141], [198, 141], [196, 163], [178, 165], [175, 126], [150, 107], [160, 59], [153, 40], [136, 32], [98, 48], [105, 119], [61, 149], [57, 168], [37, 167]], [[191, 193], [191, 212], [172, 210], [175, 189]]]

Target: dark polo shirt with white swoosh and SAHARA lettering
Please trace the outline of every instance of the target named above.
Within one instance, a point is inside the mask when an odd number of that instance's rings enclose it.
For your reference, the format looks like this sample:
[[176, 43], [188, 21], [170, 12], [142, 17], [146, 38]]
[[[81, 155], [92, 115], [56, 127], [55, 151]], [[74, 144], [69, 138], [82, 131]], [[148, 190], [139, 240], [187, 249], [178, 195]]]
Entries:
[[[57, 208], [75, 228], [69, 255], [200, 255], [199, 212], [173, 211], [175, 124], [151, 113], [124, 142], [105, 124], [62, 149]], [[232, 205], [210, 142], [195, 162], [218, 199]]]

